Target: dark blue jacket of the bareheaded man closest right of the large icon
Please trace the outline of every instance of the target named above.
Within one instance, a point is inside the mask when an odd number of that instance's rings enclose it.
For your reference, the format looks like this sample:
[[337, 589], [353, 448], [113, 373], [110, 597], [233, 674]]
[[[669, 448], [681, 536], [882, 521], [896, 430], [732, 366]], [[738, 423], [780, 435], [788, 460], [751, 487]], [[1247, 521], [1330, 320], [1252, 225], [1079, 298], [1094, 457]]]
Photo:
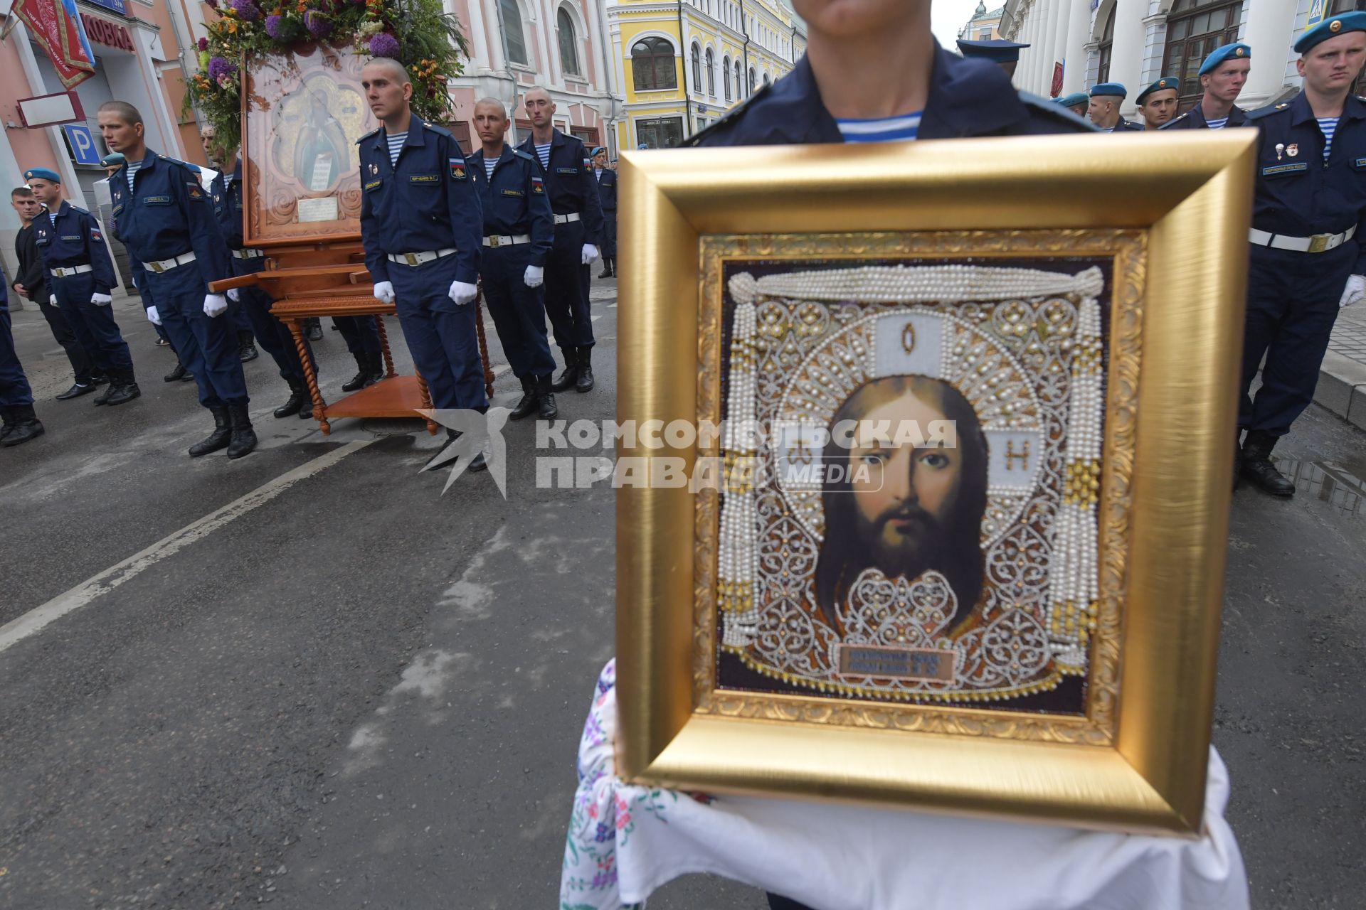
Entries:
[[455, 280], [479, 280], [484, 216], [460, 143], [449, 131], [413, 116], [398, 165], [389, 164], [384, 128], [361, 146], [361, 243], [374, 281], [389, 280], [393, 252], [456, 250]]

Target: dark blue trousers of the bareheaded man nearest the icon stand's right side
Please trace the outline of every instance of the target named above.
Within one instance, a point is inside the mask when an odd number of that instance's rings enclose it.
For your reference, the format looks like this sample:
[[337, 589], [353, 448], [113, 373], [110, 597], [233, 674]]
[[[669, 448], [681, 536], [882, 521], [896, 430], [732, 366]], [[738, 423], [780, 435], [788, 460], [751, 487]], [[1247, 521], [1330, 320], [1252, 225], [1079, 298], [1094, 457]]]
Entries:
[[456, 256], [421, 266], [389, 263], [403, 337], [432, 393], [433, 408], [488, 408], [474, 303], [449, 297]]

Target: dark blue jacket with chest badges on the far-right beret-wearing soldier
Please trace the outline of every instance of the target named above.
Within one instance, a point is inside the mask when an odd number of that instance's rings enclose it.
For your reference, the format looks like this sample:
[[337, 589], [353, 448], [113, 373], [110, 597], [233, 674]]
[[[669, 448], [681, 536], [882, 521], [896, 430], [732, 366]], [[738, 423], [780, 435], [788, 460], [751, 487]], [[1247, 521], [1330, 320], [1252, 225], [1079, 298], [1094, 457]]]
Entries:
[[[1350, 240], [1366, 244], [1366, 100], [1347, 96], [1324, 161], [1324, 134], [1300, 91], [1290, 101], [1247, 115], [1257, 127], [1257, 188], [1253, 226], [1290, 237], [1341, 233], [1356, 225]], [[1281, 146], [1280, 150], [1276, 146]], [[1255, 252], [1258, 247], [1253, 247]], [[1358, 254], [1352, 274], [1366, 274]]]

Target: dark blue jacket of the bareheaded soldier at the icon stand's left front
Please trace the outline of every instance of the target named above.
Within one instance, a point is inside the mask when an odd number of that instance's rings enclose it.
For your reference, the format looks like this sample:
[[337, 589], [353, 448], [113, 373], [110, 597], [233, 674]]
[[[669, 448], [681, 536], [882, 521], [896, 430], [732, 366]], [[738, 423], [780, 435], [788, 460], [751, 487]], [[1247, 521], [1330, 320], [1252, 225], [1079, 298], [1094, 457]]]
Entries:
[[[128, 165], [109, 180], [113, 221], [128, 248], [133, 278], [146, 287], [143, 262], [169, 259], [194, 251], [194, 263], [205, 285], [232, 277], [231, 256], [213, 213], [213, 199], [199, 186], [199, 175], [183, 161], [148, 149], [128, 192]], [[205, 288], [208, 292], [208, 288]]]

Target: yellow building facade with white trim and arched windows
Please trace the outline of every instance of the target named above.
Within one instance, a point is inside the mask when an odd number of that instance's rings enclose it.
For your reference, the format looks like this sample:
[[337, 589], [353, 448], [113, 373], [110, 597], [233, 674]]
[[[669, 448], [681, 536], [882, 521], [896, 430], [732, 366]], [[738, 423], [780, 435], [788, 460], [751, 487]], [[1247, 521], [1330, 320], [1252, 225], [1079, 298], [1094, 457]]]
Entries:
[[668, 149], [792, 70], [806, 30], [785, 0], [608, 0], [617, 147]]

